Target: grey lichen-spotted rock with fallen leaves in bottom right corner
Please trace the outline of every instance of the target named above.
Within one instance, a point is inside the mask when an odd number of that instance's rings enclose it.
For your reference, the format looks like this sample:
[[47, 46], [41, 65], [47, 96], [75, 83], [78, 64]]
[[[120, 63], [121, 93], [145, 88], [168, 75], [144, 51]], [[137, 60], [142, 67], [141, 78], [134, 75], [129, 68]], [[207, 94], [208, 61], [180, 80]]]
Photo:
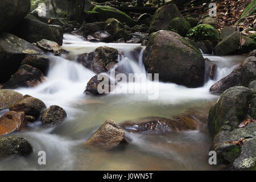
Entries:
[[[221, 131], [213, 139], [210, 150], [217, 152], [217, 163], [228, 164], [233, 170], [254, 170], [256, 164], [256, 123], [232, 131]], [[239, 139], [242, 146], [230, 144]]]

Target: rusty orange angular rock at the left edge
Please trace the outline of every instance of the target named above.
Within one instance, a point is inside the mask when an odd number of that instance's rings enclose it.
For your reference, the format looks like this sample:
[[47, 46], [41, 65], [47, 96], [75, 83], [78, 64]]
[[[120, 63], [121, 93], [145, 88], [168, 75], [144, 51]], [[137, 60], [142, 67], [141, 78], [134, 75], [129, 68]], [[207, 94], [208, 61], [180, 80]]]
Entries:
[[9, 111], [0, 118], [0, 136], [22, 131], [26, 127], [25, 113]]

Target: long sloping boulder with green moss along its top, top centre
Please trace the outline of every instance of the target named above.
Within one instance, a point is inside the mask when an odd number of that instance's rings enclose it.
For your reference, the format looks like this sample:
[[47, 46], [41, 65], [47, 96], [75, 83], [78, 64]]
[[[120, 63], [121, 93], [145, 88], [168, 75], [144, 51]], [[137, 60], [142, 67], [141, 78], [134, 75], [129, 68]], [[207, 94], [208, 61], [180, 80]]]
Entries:
[[114, 7], [95, 5], [90, 13], [93, 13], [98, 21], [105, 21], [109, 18], [114, 18], [119, 20], [121, 23], [126, 23], [129, 26], [135, 25], [133, 19], [131, 19], [130, 16], [123, 13], [122, 11], [119, 11], [118, 9], [115, 9]]

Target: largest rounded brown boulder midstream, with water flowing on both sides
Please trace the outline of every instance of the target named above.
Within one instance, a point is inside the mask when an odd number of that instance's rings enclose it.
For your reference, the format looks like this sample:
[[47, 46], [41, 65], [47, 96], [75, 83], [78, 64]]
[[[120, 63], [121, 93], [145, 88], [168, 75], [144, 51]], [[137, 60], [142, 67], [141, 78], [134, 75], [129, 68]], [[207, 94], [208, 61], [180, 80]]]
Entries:
[[204, 58], [200, 51], [172, 31], [151, 36], [143, 54], [148, 73], [159, 73], [159, 80], [188, 87], [204, 84]]

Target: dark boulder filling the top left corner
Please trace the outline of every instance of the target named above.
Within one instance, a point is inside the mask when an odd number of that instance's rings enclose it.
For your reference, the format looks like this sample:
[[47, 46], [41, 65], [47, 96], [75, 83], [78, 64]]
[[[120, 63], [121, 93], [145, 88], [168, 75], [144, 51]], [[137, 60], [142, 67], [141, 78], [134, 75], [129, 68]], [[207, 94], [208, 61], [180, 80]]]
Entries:
[[0, 1], [0, 32], [10, 31], [30, 12], [30, 0]]

